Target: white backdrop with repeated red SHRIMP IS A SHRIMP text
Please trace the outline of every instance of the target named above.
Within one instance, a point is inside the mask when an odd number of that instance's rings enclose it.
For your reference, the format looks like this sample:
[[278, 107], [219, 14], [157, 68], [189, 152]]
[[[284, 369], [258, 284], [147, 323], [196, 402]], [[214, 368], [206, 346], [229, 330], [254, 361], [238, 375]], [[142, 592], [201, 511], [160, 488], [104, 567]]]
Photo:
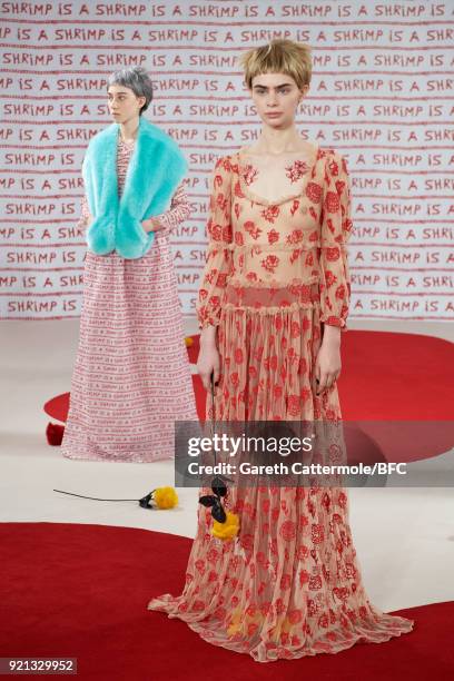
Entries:
[[1, 2], [1, 318], [80, 314], [81, 161], [107, 76], [134, 65], [190, 164], [172, 245], [194, 314], [209, 174], [259, 132], [236, 57], [274, 37], [313, 47], [298, 129], [348, 160], [352, 317], [454, 319], [454, 0]]

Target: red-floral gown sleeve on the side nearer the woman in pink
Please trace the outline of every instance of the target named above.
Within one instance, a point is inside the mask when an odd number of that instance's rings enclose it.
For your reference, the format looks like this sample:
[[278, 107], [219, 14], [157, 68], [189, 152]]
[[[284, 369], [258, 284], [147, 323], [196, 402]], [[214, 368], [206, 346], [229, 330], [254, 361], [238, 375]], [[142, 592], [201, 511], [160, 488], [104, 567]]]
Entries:
[[211, 174], [206, 265], [196, 305], [200, 329], [207, 326], [218, 326], [223, 293], [231, 272], [230, 185], [229, 157], [220, 158]]

